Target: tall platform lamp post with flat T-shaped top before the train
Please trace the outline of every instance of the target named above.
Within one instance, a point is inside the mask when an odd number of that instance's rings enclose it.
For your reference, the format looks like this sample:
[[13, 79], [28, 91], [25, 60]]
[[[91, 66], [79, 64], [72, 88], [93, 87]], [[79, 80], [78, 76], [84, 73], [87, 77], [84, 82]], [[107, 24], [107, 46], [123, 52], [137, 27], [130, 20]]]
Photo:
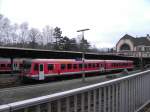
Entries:
[[82, 32], [82, 82], [85, 82], [85, 46], [84, 46], [84, 32], [90, 29], [77, 30], [77, 32]]

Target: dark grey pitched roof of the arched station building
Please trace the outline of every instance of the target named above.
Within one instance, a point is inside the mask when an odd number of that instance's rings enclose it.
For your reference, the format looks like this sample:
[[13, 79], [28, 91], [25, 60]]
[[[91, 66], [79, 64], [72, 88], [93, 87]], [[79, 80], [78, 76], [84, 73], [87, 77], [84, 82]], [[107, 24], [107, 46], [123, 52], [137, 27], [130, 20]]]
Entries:
[[[149, 39], [148, 39], [149, 38]], [[147, 35], [146, 37], [132, 37], [128, 34], [124, 35], [122, 39], [130, 39], [134, 46], [144, 45], [144, 46], [150, 46], [150, 37]]]

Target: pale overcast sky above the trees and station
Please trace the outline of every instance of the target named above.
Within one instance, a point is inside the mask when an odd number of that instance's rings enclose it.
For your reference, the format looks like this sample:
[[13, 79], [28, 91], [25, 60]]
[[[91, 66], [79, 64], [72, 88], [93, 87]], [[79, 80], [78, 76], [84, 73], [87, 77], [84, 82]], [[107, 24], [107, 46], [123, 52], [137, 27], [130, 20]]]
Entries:
[[150, 33], [150, 0], [0, 0], [0, 13], [30, 27], [58, 26], [69, 38], [89, 28], [85, 38], [101, 48]]

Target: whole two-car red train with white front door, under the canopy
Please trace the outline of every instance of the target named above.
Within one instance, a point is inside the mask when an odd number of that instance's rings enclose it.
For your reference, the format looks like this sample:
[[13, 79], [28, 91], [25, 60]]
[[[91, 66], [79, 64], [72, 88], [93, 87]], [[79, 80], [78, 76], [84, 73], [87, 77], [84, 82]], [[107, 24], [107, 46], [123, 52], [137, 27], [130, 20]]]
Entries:
[[24, 77], [44, 80], [48, 77], [77, 75], [85, 73], [104, 73], [123, 69], [133, 69], [133, 61], [128, 60], [85, 60], [73, 59], [31, 59], [23, 61]]

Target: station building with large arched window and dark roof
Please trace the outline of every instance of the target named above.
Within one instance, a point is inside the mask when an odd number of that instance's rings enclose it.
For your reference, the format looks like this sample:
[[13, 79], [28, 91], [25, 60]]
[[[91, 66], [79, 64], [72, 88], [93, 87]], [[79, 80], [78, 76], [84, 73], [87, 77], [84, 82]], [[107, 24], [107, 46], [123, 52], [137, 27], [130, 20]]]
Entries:
[[116, 52], [133, 57], [150, 57], [150, 36], [133, 37], [124, 35], [116, 44]]

